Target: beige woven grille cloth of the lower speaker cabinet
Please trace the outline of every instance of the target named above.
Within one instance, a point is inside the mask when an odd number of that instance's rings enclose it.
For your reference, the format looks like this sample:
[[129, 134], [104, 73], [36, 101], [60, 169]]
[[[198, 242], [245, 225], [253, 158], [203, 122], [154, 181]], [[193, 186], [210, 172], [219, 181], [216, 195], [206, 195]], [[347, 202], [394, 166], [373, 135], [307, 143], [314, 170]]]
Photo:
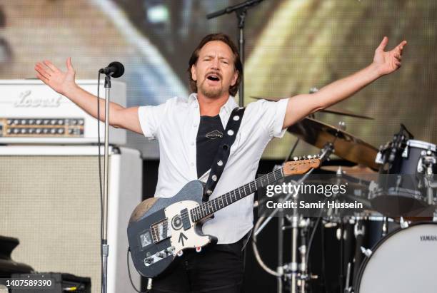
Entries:
[[91, 277], [99, 292], [97, 156], [0, 156], [0, 174], [0, 234], [20, 240], [12, 258]]

